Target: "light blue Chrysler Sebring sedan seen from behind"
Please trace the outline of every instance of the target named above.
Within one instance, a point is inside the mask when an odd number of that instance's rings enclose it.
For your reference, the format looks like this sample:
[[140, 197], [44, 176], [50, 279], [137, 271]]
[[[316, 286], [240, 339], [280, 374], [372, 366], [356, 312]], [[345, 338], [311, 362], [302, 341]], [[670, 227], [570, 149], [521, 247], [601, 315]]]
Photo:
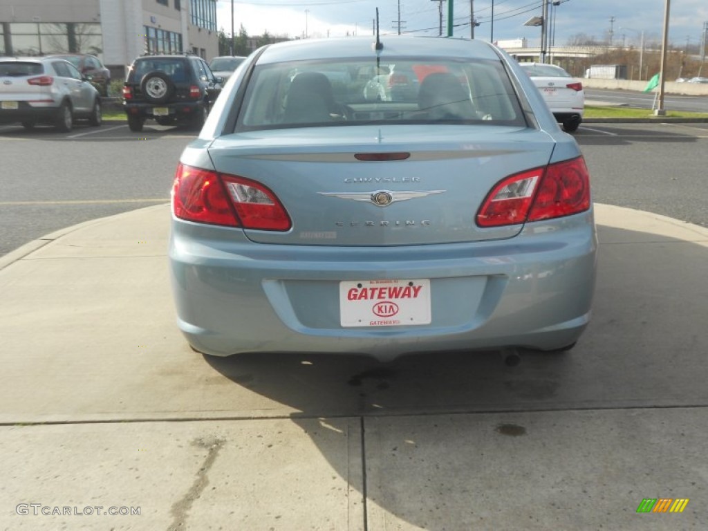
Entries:
[[[195, 350], [565, 350], [588, 324], [588, 170], [535, 85], [481, 40], [382, 45], [264, 47], [185, 148], [169, 261]], [[416, 101], [323, 74], [379, 62], [430, 65]]]

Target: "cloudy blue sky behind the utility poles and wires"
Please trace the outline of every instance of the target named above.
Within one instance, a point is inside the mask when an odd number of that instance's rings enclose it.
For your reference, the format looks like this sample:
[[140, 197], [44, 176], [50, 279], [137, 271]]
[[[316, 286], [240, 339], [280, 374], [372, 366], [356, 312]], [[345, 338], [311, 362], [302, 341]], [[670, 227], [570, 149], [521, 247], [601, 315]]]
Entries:
[[[479, 26], [475, 37], [490, 40], [526, 38], [538, 45], [541, 30], [525, 26], [532, 16], [541, 15], [542, 0], [454, 0], [454, 35], [470, 36], [470, 5]], [[438, 35], [440, 2], [436, 0], [241, 0], [233, 1], [234, 28], [261, 35], [290, 38], [326, 38], [343, 35], [372, 35], [376, 8], [382, 34]], [[493, 6], [493, 25], [492, 21]], [[555, 44], [565, 45], [573, 35], [583, 33], [612, 42], [639, 45], [661, 40], [666, 0], [561, 0], [554, 7]], [[708, 0], [673, 0], [670, 6], [669, 40], [678, 47], [700, 45], [703, 24], [708, 22]], [[219, 28], [231, 33], [232, 0], [217, 0]], [[400, 16], [399, 16], [400, 9]], [[442, 31], [447, 28], [447, 1], [442, 2]], [[611, 21], [611, 19], [613, 19]]]

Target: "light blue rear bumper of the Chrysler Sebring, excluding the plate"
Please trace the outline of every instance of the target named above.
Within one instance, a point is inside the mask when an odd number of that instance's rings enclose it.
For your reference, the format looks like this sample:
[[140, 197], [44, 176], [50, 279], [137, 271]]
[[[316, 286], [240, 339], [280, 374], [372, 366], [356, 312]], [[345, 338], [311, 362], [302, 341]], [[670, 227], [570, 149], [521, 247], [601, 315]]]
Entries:
[[[440, 350], [553, 350], [574, 343], [590, 319], [592, 210], [473, 244], [322, 248], [253, 244], [236, 233], [224, 228], [215, 238], [215, 227], [172, 222], [178, 325], [202, 353], [390, 360]], [[384, 279], [430, 279], [430, 324], [341, 326], [339, 282]]]

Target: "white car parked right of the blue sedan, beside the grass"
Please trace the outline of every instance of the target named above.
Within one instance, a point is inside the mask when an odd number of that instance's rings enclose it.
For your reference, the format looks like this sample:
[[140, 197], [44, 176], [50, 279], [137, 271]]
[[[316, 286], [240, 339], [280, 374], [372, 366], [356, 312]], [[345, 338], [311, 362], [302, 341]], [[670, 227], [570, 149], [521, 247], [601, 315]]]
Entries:
[[585, 92], [583, 84], [554, 64], [520, 63], [538, 87], [551, 112], [563, 129], [573, 132], [583, 122]]

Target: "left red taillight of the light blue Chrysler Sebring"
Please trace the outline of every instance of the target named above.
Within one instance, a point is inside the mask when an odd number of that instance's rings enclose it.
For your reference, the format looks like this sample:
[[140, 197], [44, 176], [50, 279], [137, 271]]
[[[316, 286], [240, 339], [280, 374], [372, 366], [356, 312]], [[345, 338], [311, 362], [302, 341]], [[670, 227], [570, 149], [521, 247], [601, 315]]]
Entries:
[[172, 188], [174, 215], [244, 229], [287, 231], [290, 217], [275, 194], [250, 179], [179, 164]]

